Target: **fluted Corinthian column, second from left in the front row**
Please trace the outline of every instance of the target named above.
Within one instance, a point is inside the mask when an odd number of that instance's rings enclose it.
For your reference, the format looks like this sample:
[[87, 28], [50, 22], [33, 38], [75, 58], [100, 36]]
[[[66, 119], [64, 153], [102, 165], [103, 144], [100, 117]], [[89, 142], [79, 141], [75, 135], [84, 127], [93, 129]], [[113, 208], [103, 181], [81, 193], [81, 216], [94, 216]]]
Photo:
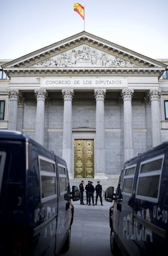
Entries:
[[35, 140], [44, 145], [45, 98], [48, 93], [45, 89], [35, 89], [34, 93], [37, 99]]

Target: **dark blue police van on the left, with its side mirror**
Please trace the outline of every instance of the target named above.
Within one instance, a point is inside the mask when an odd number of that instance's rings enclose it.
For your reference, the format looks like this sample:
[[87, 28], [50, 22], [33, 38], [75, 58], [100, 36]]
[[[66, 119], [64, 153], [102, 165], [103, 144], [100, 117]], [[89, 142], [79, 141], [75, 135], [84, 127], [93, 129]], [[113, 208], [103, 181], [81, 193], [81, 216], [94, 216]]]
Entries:
[[69, 249], [73, 204], [66, 162], [20, 132], [0, 130], [0, 255]]

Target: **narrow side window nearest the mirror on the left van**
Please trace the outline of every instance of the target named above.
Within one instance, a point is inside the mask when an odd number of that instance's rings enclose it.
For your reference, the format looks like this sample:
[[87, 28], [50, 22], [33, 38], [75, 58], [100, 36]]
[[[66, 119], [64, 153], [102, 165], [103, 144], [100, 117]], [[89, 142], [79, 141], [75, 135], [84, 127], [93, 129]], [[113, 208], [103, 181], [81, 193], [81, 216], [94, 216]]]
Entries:
[[58, 164], [58, 173], [60, 179], [60, 195], [65, 195], [68, 192], [66, 166]]

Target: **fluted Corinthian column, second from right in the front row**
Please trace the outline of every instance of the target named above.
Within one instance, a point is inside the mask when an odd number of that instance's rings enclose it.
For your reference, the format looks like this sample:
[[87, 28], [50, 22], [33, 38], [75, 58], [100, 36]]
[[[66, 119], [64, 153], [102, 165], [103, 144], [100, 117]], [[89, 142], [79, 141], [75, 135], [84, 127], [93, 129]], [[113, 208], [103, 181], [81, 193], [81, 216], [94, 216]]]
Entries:
[[123, 89], [121, 97], [124, 104], [124, 161], [134, 156], [133, 128], [132, 128], [132, 106], [131, 101], [134, 90]]

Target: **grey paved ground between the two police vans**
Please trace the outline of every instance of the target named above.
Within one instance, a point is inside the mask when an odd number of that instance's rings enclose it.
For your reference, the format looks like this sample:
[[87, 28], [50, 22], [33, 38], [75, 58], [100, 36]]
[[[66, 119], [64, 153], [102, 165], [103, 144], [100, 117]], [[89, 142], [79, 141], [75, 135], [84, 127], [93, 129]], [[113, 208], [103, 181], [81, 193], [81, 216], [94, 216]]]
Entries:
[[103, 206], [81, 205], [73, 202], [74, 218], [68, 252], [62, 256], [112, 256], [110, 250], [109, 209], [112, 203], [103, 200]]

